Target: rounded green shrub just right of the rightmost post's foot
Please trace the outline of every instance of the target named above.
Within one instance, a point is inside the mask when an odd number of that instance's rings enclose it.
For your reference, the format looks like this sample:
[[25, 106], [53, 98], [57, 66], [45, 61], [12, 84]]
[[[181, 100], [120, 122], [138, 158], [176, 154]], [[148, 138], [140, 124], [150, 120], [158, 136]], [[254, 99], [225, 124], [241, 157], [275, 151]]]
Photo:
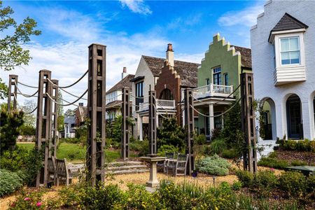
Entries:
[[269, 197], [270, 192], [278, 185], [278, 178], [271, 171], [260, 171], [254, 175], [253, 187], [262, 197]]

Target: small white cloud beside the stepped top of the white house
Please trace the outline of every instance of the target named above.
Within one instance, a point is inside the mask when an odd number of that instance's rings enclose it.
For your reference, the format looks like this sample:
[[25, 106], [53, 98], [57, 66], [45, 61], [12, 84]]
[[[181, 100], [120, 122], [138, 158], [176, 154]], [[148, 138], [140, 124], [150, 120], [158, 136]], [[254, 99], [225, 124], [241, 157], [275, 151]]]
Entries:
[[234, 25], [245, 25], [251, 27], [255, 25], [257, 15], [262, 13], [264, 10], [262, 5], [251, 6], [244, 8], [244, 10], [230, 11], [225, 13], [218, 19], [218, 23], [225, 27]]

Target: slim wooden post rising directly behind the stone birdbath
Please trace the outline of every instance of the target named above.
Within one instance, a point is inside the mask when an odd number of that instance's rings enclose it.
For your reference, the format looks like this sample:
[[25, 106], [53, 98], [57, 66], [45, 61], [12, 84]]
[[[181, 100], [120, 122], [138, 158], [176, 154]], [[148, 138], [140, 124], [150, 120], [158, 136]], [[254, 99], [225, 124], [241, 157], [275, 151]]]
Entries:
[[157, 148], [156, 148], [156, 102], [155, 102], [156, 92], [155, 90], [149, 91], [149, 132], [148, 137], [149, 141], [149, 154], [155, 155]]

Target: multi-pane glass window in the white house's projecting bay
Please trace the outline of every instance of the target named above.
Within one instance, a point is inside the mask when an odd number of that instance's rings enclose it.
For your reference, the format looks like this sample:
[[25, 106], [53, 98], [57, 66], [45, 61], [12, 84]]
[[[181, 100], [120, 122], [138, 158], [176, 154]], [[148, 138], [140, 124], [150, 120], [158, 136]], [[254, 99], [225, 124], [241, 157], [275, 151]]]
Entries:
[[280, 38], [281, 64], [300, 64], [299, 37]]

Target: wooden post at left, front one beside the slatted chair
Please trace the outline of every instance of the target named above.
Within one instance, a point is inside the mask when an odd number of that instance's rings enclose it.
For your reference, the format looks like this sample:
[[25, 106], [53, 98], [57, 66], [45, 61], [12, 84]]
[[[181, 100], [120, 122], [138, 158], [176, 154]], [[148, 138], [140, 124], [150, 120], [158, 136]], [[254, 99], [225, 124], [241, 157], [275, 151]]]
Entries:
[[48, 81], [51, 78], [51, 71], [39, 71], [38, 78], [38, 97], [37, 97], [37, 119], [36, 119], [36, 145], [38, 150], [45, 148], [45, 158], [43, 160], [43, 169], [38, 172], [36, 187], [41, 184], [46, 185], [48, 179], [48, 156], [50, 153], [51, 138], [51, 106], [52, 101], [48, 97], [52, 95], [52, 85]]

